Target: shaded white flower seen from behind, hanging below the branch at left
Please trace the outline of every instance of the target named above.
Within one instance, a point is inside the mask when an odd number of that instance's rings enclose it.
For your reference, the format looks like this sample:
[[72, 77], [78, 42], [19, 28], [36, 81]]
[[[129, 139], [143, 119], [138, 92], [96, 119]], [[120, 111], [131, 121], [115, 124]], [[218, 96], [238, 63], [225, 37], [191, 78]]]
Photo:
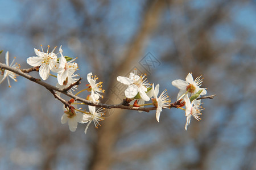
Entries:
[[68, 107], [64, 107], [64, 114], [61, 117], [61, 124], [65, 124], [68, 122], [69, 130], [70, 131], [76, 131], [77, 128], [77, 122], [84, 124], [84, 121], [82, 121], [83, 113], [80, 113], [76, 111], [77, 106], [73, 105], [71, 109]]

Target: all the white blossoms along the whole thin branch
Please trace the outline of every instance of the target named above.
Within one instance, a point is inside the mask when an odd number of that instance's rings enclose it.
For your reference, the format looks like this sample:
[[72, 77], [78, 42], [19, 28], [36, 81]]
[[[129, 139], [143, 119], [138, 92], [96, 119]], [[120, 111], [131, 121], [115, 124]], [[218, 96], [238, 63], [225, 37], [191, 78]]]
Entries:
[[[33, 66], [37, 71], [39, 71], [39, 76], [46, 80], [49, 76], [52, 76], [57, 79], [56, 87], [59, 89], [64, 89], [71, 87], [68, 91], [73, 94], [72, 91], [77, 90], [77, 85], [75, 84], [77, 80], [76, 71], [78, 70], [78, 65], [74, 62], [77, 58], [70, 58], [63, 55], [63, 50], [61, 46], [59, 52], [55, 53], [56, 47], [49, 52], [49, 46], [47, 51], [44, 52], [41, 45], [42, 51], [39, 49], [34, 49], [36, 56], [28, 57], [27, 63], [30, 66]], [[19, 68], [17, 63], [14, 64], [11, 62], [9, 65], [9, 52], [6, 53], [6, 65], [10, 67]], [[160, 120], [160, 113], [163, 108], [170, 109], [171, 107], [180, 108], [185, 111], [185, 116], [187, 117], [187, 122], [185, 123], [185, 130], [187, 130], [188, 125], [190, 124], [191, 117], [193, 116], [196, 120], [201, 120], [200, 115], [203, 108], [201, 107], [201, 100], [198, 98], [201, 95], [206, 95], [206, 88], [200, 88], [203, 79], [201, 76], [197, 77], [195, 80], [191, 73], [187, 75], [185, 80], [174, 80], [172, 85], [179, 88], [179, 93], [177, 94], [177, 101], [174, 104], [171, 103], [171, 99], [167, 94], [167, 90], [164, 90], [159, 95], [159, 84], [148, 83], [146, 74], [137, 74], [137, 70], [134, 69], [133, 73], [130, 73], [129, 77], [118, 76], [117, 81], [125, 84], [127, 86], [125, 93], [126, 104], [131, 108], [143, 108], [147, 105], [152, 105], [153, 109], [156, 110], [156, 121]], [[9, 87], [10, 80], [9, 78], [16, 81], [16, 74], [6, 70], [0, 69], [0, 83], [7, 78]], [[86, 100], [92, 101], [93, 103], [100, 103], [100, 98], [103, 99], [102, 93], [105, 91], [102, 90], [102, 82], [97, 82], [98, 77], [92, 73], [88, 73], [87, 81], [88, 84], [85, 84], [85, 89], [77, 92], [75, 95], [81, 94], [81, 92], [88, 91], [89, 94], [86, 97]], [[69, 88], [68, 88], [69, 89]], [[56, 92], [56, 95], [60, 97], [60, 92]], [[151, 103], [146, 103], [149, 102]], [[63, 102], [64, 103], [64, 102]], [[93, 121], [94, 126], [98, 128], [100, 126], [100, 121], [104, 120], [104, 109], [99, 108], [96, 111], [96, 107], [88, 105], [88, 110], [78, 108], [78, 105], [85, 105], [85, 103], [78, 103], [75, 99], [70, 99], [68, 104], [64, 103], [63, 111], [64, 114], [61, 117], [61, 124], [68, 122], [69, 130], [75, 131], [77, 129], [78, 123], [87, 124], [85, 128], [85, 134], [88, 129], [88, 126]], [[185, 108], [183, 108], [185, 106]], [[139, 111], [142, 112], [142, 111]]]

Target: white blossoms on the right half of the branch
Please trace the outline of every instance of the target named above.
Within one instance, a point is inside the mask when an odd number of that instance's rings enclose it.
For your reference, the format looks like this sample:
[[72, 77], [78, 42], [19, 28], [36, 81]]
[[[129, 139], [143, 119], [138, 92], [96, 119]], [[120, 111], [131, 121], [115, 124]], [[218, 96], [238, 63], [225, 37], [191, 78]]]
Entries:
[[[143, 107], [144, 105], [154, 105], [156, 107], [156, 120], [159, 122], [160, 113], [162, 108], [171, 108], [171, 100], [167, 95], [167, 90], [164, 90], [158, 97], [159, 94], [159, 84], [154, 86], [146, 80], [146, 74], [137, 75], [137, 70], [134, 70], [134, 73], [130, 73], [129, 78], [125, 76], [118, 76], [117, 80], [123, 84], [128, 85], [125, 90], [125, 96], [131, 100], [133, 107]], [[191, 73], [187, 75], [186, 80], [174, 80], [172, 85], [179, 88], [179, 93], [177, 94], [177, 101], [185, 101], [185, 116], [187, 117], [187, 122], [185, 124], [185, 130], [190, 124], [191, 116], [195, 117], [196, 120], [201, 120], [201, 110], [203, 108], [201, 105], [201, 100], [197, 100], [197, 97], [200, 95], [206, 95], [207, 91], [205, 88], [200, 88], [201, 83], [203, 82], [200, 77], [197, 77], [193, 80]], [[151, 87], [152, 86], [152, 87]], [[152, 103], [144, 104], [145, 101], [149, 101], [151, 98]], [[184, 104], [179, 105], [180, 109]]]

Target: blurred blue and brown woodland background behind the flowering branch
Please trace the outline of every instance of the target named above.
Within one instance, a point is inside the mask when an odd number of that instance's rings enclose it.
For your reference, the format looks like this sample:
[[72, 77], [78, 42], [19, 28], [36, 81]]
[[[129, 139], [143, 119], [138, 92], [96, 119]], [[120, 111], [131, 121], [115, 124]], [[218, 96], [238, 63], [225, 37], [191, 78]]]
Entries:
[[0, 61], [9, 50], [28, 68], [41, 44], [78, 57], [79, 90], [98, 75], [102, 103], [121, 102], [116, 77], [134, 67], [172, 101], [172, 80], [188, 73], [217, 96], [187, 131], [181, 109], [164, 109], [160, 123], [155, 111], [115, 109], [85, 135], [85, 125], [72, 133], [60, 123], [63, 106], [46, 88], [19, 76], [0, 84], [0, 169], [256, 169], [256, 1], [1, 0]]

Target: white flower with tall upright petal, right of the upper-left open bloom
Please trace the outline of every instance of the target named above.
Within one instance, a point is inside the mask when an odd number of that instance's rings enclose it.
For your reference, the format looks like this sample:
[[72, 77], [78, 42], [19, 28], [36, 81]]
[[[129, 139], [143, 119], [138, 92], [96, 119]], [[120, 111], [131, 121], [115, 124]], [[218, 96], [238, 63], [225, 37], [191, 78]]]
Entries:
[[76, 69], [78, 68], [77, 63], [73, 62], [76, 58], [72, 59], [71, 61], [67, 62], [65, 57], [63, 56], [63, 50], [60, 46], [60, 65], [59, 65], [59, 71], [57, 71], [57, 80], [60, 85], [63, 85], [63, 82], [67, 79], [68, 76], [71, 76], [73, 73], [75, 73]]

